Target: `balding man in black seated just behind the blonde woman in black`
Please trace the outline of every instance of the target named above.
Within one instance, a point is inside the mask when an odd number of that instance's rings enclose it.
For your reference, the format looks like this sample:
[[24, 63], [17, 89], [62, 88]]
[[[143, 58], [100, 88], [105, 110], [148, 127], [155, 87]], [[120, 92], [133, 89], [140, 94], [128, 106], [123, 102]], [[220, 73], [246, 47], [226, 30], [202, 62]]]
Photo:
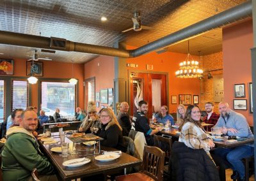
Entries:
[[131, 121], [128, 114], [129, 105], [127, 102], [122, 102], [120, 105], [120, 112], [117, 115], [117, 120], [120, 126], [123, 129], [123, 136], [129, 136], [129, 132], [131, 131]]

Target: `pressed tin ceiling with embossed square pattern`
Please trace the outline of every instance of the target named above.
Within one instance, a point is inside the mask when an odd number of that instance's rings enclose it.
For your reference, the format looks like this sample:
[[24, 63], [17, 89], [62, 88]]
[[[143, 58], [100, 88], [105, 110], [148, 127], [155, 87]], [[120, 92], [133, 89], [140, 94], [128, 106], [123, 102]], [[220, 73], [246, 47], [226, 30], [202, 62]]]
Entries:
[[[116, 42], [140, 47], [167, 34], [174, 33], [223, 10], [243, 3], [242, 0], [0, 0], [0, 30], [65, 38], [70, 41], [113, 47]], [[140, 11], [141, 24], [150, 30], [128, 31], [132, 27], [132, 13]], [[100, 17], [108, 18], [101, 22]], [[189, 52], [198, 55], [221, 51], [221, 28], [189, 40]], [[188, 42], [170, 45], [170, 52], [188, 52]], [[31, 48], [0, 45], [0, 58], [29, 59]], [[76, 63], [90, 61], [97, 55], [56, 51], [55, 54], [38, 51], [39, 57], [53, 61]]]

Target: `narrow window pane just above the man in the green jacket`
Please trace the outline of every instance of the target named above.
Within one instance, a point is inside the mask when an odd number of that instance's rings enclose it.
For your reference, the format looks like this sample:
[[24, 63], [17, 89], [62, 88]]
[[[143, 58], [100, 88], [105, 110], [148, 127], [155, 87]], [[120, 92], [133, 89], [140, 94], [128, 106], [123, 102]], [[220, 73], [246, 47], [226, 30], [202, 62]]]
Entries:
[[28, 107], [28, 82], [13, 80], [12, 82], [12, 110]]

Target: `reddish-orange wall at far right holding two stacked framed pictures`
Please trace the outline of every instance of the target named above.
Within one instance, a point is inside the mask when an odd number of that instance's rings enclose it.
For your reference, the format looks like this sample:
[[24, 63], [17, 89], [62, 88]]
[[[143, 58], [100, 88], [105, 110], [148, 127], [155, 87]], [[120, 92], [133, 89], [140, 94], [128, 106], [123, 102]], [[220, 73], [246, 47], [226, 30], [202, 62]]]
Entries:
[[[247, 99], [247, 110], [242, 113], [253, 125], [250, 113], [248, 83], [252, 82], [252, 61], [250, 48], [253, 47], [252, 20], [223, 29], [223, 78], [225, 101], [234, 108], [233, 99]], [[234, 84], [245, 83], [246, 98], [234, 98]]]

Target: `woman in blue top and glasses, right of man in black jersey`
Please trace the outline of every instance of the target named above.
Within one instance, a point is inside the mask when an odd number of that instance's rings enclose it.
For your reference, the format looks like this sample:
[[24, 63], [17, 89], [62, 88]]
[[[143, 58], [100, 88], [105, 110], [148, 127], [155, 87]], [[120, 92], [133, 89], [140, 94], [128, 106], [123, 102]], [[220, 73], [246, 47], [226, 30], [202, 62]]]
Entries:
[[171, 122], [172, 125], [174, 124], [173, 117], [168, 113], [167, 106], [161, 106], [160, 112], [155, 115], [154, 122], [159, 122], [163, 124]]

